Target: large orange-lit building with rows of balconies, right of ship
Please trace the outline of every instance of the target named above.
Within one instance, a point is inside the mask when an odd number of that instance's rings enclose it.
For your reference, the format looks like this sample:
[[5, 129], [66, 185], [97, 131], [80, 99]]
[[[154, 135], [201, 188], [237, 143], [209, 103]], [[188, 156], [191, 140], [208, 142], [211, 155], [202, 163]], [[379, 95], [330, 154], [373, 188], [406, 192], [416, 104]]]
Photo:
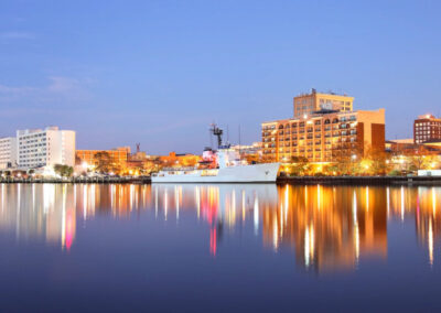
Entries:
[[368, 150], [385, 150], [385, 109], [375, 111], [320, 110], [309, 116], [268, 121], [262, 128], [262, 160], [331, 162]]

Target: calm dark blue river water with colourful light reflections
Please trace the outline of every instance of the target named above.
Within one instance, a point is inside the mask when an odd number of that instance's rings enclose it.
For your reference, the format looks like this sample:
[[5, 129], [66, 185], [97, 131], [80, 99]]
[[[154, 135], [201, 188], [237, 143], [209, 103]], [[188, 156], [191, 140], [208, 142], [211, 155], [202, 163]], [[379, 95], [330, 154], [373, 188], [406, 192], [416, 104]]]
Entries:
[[0, 184], [0, 311], [440, 311], [441, 187]]

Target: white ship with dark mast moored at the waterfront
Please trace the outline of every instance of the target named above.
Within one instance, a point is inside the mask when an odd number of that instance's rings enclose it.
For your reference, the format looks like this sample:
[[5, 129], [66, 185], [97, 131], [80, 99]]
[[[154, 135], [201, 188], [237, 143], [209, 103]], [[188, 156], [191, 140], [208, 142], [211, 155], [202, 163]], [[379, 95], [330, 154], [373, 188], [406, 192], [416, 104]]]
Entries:
[[240, 155], [222, 143], [222, 129], [213, 126], [217, 136], [218, 150], [204, 152], [204, 163], [213, 161], [214, 166], [205, 169], [163, 169], [152, 175], [152, 183], [259, 183], [276, 182], [279, 163], [244, 164]]

